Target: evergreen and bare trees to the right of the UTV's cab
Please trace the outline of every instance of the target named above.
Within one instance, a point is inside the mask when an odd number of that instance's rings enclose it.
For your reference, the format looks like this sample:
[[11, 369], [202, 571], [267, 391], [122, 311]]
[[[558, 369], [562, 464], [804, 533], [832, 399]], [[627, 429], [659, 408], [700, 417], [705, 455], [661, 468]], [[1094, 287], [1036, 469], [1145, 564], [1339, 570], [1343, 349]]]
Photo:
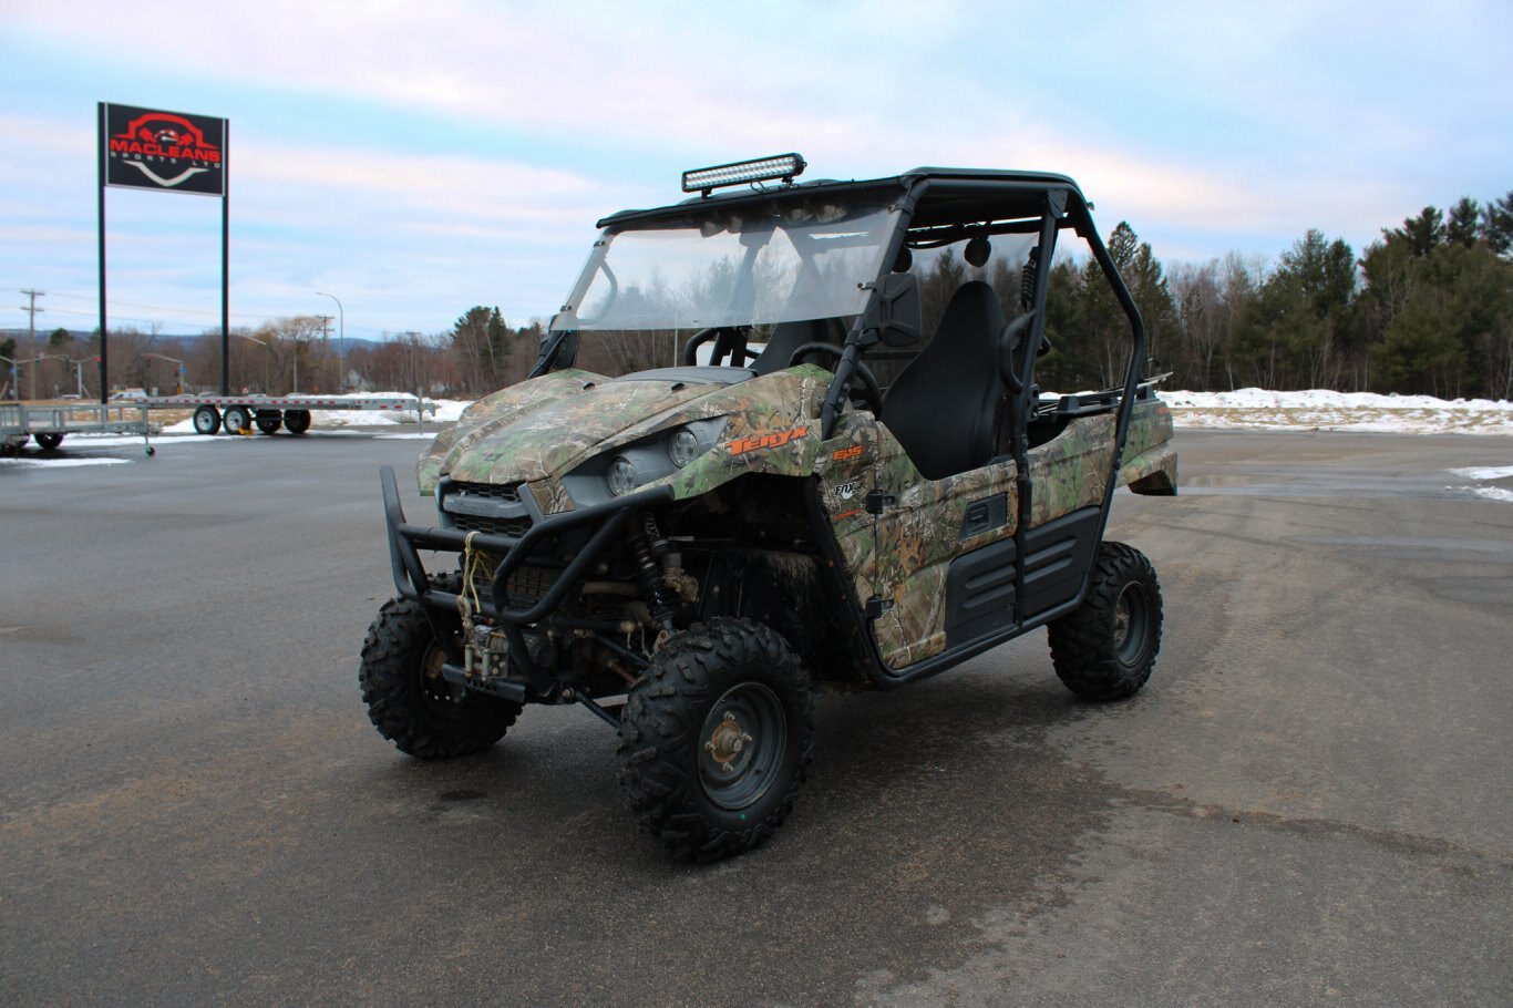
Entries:
[[[1229, 254], [1168, 272], [1121, 222], [1108, 239], [1167, 387], [1513, 397], [1513, 192], [1383, 229], [1360, 259], [1310, 230], [1274, 265]], [[1058, 257], [1045, 387], [1115, 384], [1126, 327], [1091, 259]]]

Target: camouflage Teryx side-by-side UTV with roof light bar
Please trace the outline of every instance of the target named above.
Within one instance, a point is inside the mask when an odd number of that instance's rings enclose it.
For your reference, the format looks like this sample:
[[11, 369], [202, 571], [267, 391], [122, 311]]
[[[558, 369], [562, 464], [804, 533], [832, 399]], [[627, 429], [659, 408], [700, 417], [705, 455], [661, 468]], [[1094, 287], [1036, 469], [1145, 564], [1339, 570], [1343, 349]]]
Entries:
[[[1080, 698], [1150, 677], [1156, 572], [1103, 530], [1115, 487], [1174, 493], [1177, 459], [1077, 185], [802, 168], [688, 173], [699, 195], [601, 221], [531, 377], [421, 457], [434, 524], [383, 469], [399, 598], [360, 678], [401, 751], [478, 752], [527, 704], [581, 704], [619, 731], [642, 826], [711, 860], [788, 814], [817, 689], [903, 686], [1042, 625]], [[1050, 263], [1079, 236], [1127, 366], [1041, 395]]]

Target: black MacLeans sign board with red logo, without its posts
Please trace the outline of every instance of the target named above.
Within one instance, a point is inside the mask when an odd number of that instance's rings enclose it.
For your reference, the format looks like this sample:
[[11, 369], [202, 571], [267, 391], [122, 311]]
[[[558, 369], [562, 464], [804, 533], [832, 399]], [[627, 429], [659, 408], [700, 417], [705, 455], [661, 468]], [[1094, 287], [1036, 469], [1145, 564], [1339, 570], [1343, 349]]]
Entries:
[[106, 104], [104, 185], [225, 195], [225, 120]]

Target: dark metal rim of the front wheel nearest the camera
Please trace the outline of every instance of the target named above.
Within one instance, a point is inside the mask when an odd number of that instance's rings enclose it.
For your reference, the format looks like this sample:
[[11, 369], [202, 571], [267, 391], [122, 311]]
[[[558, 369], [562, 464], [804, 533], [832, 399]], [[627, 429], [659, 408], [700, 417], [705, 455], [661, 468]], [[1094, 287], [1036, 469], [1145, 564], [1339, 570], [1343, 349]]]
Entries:
[[720, 808], [749, 808], [778, 779], [787, 748], [788, 716], [778, 695], [761, 683], [732, 686], [699, 731], [704, 793]]

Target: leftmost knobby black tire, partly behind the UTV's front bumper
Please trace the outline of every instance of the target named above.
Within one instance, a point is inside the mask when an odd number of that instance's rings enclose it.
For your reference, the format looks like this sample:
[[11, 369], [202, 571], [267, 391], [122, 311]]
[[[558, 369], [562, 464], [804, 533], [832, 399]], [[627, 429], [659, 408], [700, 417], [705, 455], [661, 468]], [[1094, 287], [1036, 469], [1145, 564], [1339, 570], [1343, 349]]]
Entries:
[[[457, 590], [457, 578], [431, 578]], [[393, 598], [378, 610], [363, 642], [357, 680], [368, 717], [399, 752], [449, 760], [483, 752], [508, 731], [519, 704], [461, 693], [442, 678], [442, 649], [419, 602]]]

